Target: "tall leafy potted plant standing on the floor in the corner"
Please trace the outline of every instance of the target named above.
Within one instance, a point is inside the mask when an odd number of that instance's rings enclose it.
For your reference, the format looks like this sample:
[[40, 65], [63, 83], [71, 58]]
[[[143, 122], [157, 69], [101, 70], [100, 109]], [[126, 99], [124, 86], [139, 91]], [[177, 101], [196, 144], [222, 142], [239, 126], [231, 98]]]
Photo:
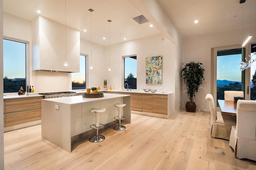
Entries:
[[196, 104], [193, 99], [198, 92], [199, 86], [202, 84], [202, 80], [204, 80], [204, 68], [202, 68], [201, 65], [202, 63], [190, 61], [190, 63], [187, 63], [180, 72], [182, 80], [186, 83], [187, 93], [190, 100], [186, 103], [186, 111], [188, 112], [196, 111]]

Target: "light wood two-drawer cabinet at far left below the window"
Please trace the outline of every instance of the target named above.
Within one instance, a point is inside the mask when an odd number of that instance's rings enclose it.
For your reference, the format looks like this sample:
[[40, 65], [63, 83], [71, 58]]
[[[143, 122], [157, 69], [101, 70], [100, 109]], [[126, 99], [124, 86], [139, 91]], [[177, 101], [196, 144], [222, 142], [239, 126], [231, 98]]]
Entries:
[[40, 120], [41, 99], [43, 97], [4, 100], [4, 127]]

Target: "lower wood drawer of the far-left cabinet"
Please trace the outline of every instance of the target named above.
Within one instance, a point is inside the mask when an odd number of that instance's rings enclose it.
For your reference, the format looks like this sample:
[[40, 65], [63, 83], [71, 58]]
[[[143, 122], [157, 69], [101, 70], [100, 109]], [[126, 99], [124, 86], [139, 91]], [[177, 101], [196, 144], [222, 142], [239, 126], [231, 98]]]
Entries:
[[22, 123], [28, 123], [32, 121], [37, 121], [41, 119], [41, 109], [33, 109], [28, 111], [20, 111], [14, 113], [5, 114], [5, 125], [13, 126]]

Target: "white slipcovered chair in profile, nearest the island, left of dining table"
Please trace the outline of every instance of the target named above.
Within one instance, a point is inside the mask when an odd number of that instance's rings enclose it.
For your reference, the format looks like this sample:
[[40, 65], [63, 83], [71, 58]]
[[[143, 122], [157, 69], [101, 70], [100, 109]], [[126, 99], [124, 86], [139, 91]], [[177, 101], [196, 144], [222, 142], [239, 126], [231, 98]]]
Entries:
[[207, 94], [205, 100], [209, 102], [211, 112], [211, 136], [229, 140], [231, 127], [236, 125], [236, 117], [222, 116], [220, 112], [216, 112], [214, 98], [211, 94]]

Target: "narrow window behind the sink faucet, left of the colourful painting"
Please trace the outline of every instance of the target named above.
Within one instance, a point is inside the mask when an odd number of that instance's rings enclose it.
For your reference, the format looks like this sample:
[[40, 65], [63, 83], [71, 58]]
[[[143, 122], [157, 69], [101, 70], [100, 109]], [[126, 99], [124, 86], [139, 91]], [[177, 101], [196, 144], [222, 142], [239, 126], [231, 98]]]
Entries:
[[124, 87], [137, 89], [137, 56], [124, 57]]

